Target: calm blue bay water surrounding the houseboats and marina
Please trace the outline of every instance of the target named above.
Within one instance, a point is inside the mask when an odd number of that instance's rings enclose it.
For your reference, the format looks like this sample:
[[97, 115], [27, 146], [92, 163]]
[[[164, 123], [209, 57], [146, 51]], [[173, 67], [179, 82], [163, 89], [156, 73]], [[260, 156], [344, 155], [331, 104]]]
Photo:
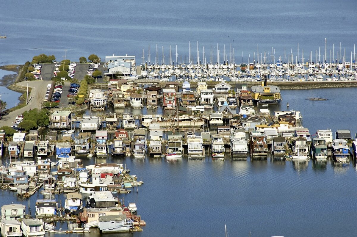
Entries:
[[[251, 60], [253, 53], [271, 54], [284, 60], [291, 49], [297, 55], [297, 44], [307, 61], [321, 47], [327, 60], [335, 44], [335, 56], [340, 42], [350, 57], [356, 40], [357, 23], [353, 1], [298, 1], [254, 2], [236, 1], [135, 1], [52, 2], [6, 1], [0, 9], [0, 64], [22, 64], [41, 53], [54, 54], [61, 60], [77, 60], [92, 53], [106, 55], [135, 55], [141, 62], [142, 49], [147, 61], [151, 46], [151, 62], [169, 61], [169, 45], [173, 60], [188, 57], [188, 42], [196, 60], [196, 42], [200, 57], [205, 46], [206, 60], [216, 61], [217, 43], [220, 61], [223, 45], [230, 58], [230, 44], [235, 49], [235, 61]], [[259, 49], [257, 49], [259, 45]], [[165, 57], [162, 59], [162, 46]], [[65, 52], [65, 50], [67, 50]], [[340, 54], [340, 52], [339, 52]], [[323, 56], [321, 56], [322, 58]], [[257, 57], [256, 57], [257, 60]], [[269, 59], [270, 60], [270, 59]], [[6, 75], [6, 74], [4, 74]], [[1, 75], [0, 75], [1, 76]], [[0, 87], [4, 95], [5, 89]], [[307, 97], [322, 96], [328, 101], [309, 101]], [[356, 89], [315, 89], [282, 91], [283, 101], [271, 110], [300, 110], [303, 126], [314, 134], [317, 129], [350, 129], [356, 132]], [[4, 99], [4, 98], [3, 98]], [[133, 111], [139, 112], [139, 111]], [[145, 113], [145, 112], [144, 112]], [[9, 162], [4, 157], [2, 162]], [[89, 165], [95, 158], [85, 158]], [[214, 162], [183, 159], [167, 163], [161, 159], [135, 160], [129, 157], [116, 160], [111, 157], [96, 162], [126, 163], [145, 181], [139, 193], [124, 195], [126, 201], [135, 201], [139, 215], [146, 221], [144, 232], [135, 236], [223, 236], [224, 225], [230, 236], [355, 236], [357, 228], [351, 225], [356, 213], [356, 166], [333, 165], [328, 162], [285, 162], [267, 160]], [[25, 203], [15, 193], [0, 192], [0, 205]], [[121, 197], [121, 196], [120, 196]], [[30, 198], [34, 202], [42, 195]], [[61, 195], [57, 200], [62, 200]], [[46, 234], [47, 235], [47, 234]], [[72, 234], [74, 235], [74, 234]], [[99, 236], [99, 233], [84, 236]], [[67, 236], [53, 235], [50, 236]], [[68, 235], [69, 236], [69, 235]], [[82, 236], [79, 234], [78, 236]], [[118, 236], [106, 234], [105, 236]], [[119, 236], [126, 236], [119, 235]]]

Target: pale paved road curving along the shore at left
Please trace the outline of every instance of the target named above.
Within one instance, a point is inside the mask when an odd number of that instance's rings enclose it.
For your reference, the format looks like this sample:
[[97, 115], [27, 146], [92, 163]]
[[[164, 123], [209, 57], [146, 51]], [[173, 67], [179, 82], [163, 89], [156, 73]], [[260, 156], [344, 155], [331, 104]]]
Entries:
[[[21, 109], [10, 112], [8, 115], [2, 116], [0, 120], [0, 127], [2, 126], [11, 127], [14, 124], [15, 117], [17, 115], [22, 114], [26, 110], [35, 109], [35, 108], [40, 109], [42, 102], [45, 99], [47, 84], [49, 82], [50, 81], [29, 81], [29, 87], [31, 87], [32, 90], [31, 90], [31, 94], [28, 97], [29, 98], [28, 104], [22, 107]], [[27, 82], [26, 81], [18, 82], [16, 83], [16, 86], [26, 88]]]

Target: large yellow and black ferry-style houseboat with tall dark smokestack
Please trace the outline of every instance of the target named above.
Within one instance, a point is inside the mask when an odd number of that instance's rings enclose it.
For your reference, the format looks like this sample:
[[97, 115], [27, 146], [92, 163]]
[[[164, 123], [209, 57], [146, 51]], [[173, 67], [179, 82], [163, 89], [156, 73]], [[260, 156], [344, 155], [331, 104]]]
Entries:
[[280, 88], [268, 86], [266, 79], [261, 86], [251, 87], [251, 95], [257, 104], [278, 104], [281, 101]]

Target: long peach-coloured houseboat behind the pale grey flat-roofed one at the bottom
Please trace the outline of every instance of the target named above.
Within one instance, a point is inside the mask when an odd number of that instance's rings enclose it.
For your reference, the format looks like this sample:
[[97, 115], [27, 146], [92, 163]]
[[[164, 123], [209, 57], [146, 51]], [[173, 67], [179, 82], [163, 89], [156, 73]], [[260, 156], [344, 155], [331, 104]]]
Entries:
[[121, 207], [103, 207], [103, 208], [84, 208], [83, 213], [79, 217], [82, 222], [85, 222], [92, 227], [99, 225], [99, 217], [122, 215]]

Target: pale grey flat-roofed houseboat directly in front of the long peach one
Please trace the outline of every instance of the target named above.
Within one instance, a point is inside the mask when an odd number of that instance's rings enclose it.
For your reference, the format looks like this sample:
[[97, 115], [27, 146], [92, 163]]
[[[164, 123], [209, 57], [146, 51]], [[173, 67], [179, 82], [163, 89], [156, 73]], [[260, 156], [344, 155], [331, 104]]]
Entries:
[[126, 215], [112, 215], [99, 217], [101, 232], [129, 232], [134, 228], [134, 222]]

